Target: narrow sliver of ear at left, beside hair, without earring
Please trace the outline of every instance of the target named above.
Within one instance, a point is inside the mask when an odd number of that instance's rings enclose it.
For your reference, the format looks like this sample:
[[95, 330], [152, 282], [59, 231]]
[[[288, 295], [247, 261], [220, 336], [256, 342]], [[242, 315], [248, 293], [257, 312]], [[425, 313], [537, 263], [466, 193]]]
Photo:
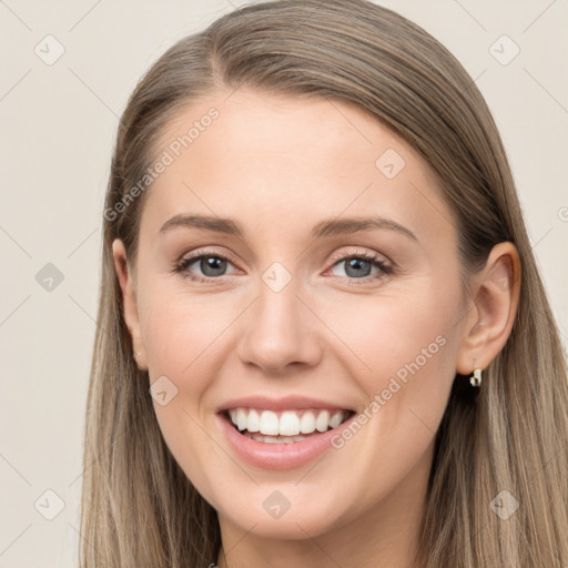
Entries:
[[114, 267], [119, 276], [120, 287], [122, 290], [122, 305], [124, 308], [124, 323], [132, 337], [134, 347], [134, 358], [136, 359], [140, 371], [148, 371], [146, 352], [142, 342], [140, 332], [140, 318], [138, 315], [138, 305], [134, 291], [134, 280], [126, 262], [126, 251], [120, 239], [115, 239], [112, 243], [112, 254], [114, 256]]

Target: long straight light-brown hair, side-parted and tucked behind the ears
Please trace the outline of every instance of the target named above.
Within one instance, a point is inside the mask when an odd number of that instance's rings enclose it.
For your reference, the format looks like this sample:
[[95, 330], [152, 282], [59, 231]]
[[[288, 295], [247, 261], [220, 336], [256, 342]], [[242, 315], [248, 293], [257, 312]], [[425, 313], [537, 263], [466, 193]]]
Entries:
[[[513, 242], [523, 284], [516, 321], [476, 399], [456, 376], [436, 437], [419, 566], [568, 566], [568, 381], [491, 114], [459, 62], [396, 12], [364, 0], [257, 3], [169, 49], [121, 118], [103, 220], [98, 331], [84, 440], [82, 568], [187, 568], [215, 562], [215, 510], [170, 454], [123, 320], [112, 242], [135, 260], [164, 125], [216, 89], [348, 101], [417, 150], [437, 173], [459, 227], [466, 274]], [[139, 185], [140, 190], [140, 185]], [[140, 193], [140, 195], [139, 195]], [[134, 195], [135, 194], [135, 195]], [[491, 510], [507, 490], [519, 508]]]

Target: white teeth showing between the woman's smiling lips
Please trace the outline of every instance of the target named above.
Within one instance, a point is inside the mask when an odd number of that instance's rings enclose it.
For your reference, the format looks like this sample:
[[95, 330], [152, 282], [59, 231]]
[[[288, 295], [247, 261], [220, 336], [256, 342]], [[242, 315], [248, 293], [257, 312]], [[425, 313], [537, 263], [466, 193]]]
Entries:
[[293, 444], [337, 428], [355, 410], [317, 408], [274, 412], [237, 407], [221, 414], [234, 429], [250, 439], [264, 444]]

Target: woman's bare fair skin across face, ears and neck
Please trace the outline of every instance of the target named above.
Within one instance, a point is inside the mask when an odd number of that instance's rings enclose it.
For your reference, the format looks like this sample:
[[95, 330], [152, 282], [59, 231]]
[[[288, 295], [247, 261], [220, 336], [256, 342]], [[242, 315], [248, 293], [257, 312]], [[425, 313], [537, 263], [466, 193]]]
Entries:
[[[229, 94], [187, 106], [162, 133], [156, 155], [211, 106], [220, 112], [148, 190], [135, 265], [113, 243], [136, 362], [150, 383], [165, 375], [178, 388], [168, 405], [154, 402], [164, 439], [219, 513], [219, 566], [407, 567], [454, 377], [486, 367], [509, 335], [516, 250], [494, 247], [464, 290], [452, 211], [409, 145], [348, 103]], [[393, 179], [375, 164], [387, 149], [405, 161]], [[159, 235], [180, 213], [233, 219], [244, 237], [193, 227]], [[392, 229], [310, 236], [324, 219], [372, 213], [416, 240]], [[223, 275], [199, 261], [184, 274], [207, 282], [173, 272], [205, 247], [234, 258]], [[393, 272], [339, 261], [361, 253]], [[280, 292], [262, 280], [275, 262], [292, 277]], [[253, 467], [220, 429], [215, 409], [252, 394], [363, 413], [436, 337], [444, 345], [361, 432], [305, 466]], [[291, 504], [277, 519], [263, 507], [274, 490]]]

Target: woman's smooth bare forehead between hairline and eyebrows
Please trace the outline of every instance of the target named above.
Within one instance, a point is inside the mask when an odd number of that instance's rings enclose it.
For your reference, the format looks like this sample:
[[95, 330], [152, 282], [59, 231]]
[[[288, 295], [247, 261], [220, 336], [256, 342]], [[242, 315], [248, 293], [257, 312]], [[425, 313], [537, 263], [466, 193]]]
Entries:
[[166, 165], [142, 215], [152, 234], [192, 212], [287, 234], [343, 214], [396, 216], [446, 239], [454, 230], [428, 164], [352, 103], [212, 94], [178, 112], [153, 154]]

